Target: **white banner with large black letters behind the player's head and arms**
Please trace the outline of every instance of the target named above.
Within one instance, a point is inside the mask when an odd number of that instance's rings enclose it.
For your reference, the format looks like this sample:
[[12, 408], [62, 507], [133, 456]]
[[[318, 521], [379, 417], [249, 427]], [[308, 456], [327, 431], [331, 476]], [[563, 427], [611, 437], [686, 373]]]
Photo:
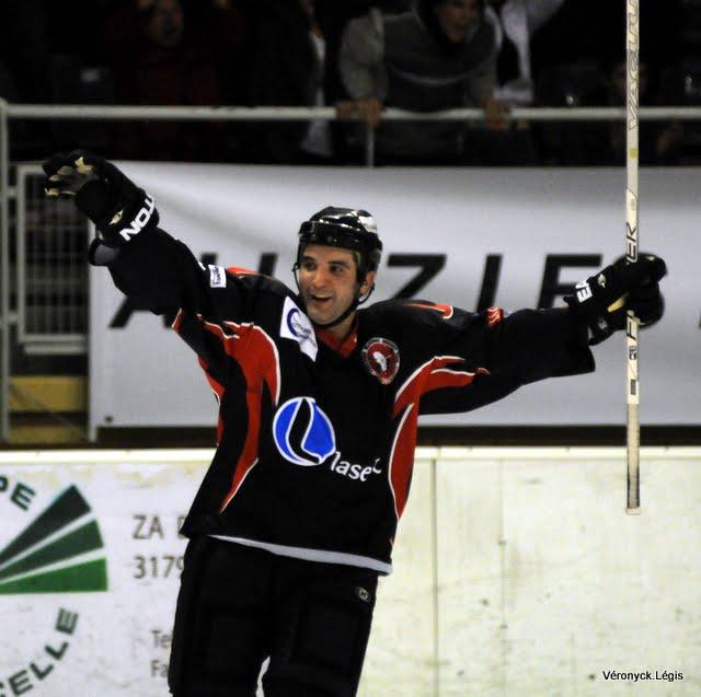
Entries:
[[[327, 205], [366, 208], [384, 243], [374, 300], [413, 295], [468, 310], [560, 304], [564, 287], [624, 253], [622, 170], [315, 169], [126, 163], [162, 226], [196, 256], [294, 283], [299, 223]], [[641, 173], [641, 248], [663, 256], [664, 320], [641, 336], [641, 421], [701, 423], [700, 174]], [[211, 426], [191, 350], [131, 312], [91, 271], [91, 426]], [[624, 339], [595, 347], [595, 374], [545, 381], [433, 425], [622, 425]]]

